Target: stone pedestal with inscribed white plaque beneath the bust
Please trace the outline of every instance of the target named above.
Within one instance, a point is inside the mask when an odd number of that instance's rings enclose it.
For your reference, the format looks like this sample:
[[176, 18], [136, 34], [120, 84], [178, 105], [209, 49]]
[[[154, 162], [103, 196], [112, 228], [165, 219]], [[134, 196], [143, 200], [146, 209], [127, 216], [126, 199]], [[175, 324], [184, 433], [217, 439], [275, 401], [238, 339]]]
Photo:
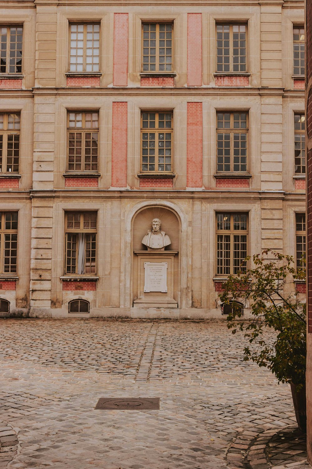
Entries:
[[174, 256], [178, 251], [134, 251], [138, 256], [138, 298], [134, 308], [177, 308]]

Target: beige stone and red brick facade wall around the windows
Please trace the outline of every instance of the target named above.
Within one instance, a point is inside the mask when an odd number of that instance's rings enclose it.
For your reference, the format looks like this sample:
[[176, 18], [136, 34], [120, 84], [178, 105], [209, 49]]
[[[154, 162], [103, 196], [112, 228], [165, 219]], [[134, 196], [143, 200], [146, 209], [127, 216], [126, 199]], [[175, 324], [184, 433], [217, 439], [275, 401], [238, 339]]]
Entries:
[[[0, 275], [11, 314], [65, 318], [71, 300], [86, 299], [89, 313], [71, 317], [221, 318], [220, 211], [248, 214], [249, 254], [272, 248], [295, 256], [305, 177], [294, 172], [294, 113], [304, 112], [304, 82], [293, 76], [292, 35], [304, 23], [304, 2], [122, 3], [0, 1], [1, 24], [24, 31], [21, 76], [0, 76], [1, 110], [21, 113], [20, 173], [0, 174], [1, 210], [19, 213], [17, 272]], [[100, 73], [69, 73], [69, 24], [85, 22], [100, 24]], [[173, 73], [141, 72], [144, 22], [174, 24]], [[246, 73], [216, 74], [216, 23], [229, 22], [247, 25]], [[66, 170], [66, 116], [77, 110], [99, 112], [96, 174]], [[140, 173], [141, 110], [173, 113], [172, 174]], [[247, 173], [216, 172], [220, 110], [248, 113]], [[70, 211], [97, 213], [93, 275], [64, 272]], [[163, 219], [178, 251], [177, 307], [134, 306], [134, 251], [145, 249], [140, 239], [151, 223], [142, 213]]]

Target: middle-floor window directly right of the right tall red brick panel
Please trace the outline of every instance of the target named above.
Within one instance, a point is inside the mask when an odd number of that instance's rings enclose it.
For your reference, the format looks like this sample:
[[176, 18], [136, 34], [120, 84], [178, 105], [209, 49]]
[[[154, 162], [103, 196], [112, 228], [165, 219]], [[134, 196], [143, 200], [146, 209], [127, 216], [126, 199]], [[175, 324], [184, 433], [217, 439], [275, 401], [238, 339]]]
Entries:
[[217, 171], [247, 171], [248, 114], [217, 113]]

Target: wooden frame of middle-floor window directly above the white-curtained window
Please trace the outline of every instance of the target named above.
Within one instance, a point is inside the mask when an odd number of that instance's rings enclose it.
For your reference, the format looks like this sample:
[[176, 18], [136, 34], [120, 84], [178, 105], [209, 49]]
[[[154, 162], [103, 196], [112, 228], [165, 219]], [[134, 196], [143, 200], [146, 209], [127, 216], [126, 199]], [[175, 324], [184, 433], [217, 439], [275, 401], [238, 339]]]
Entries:
[[[77, 114], [81, 113], [82, 114], [82, 120], [81, 120], [81, 127], [69, 127], [69, 115], [70, 114]], [[98, 126], [97, 127], [86, 127], [86, 114], [87, 113], [97, 113], [98, 115]], [[67, 163], [66, 163], [66, 172], [67, 173], [98, 173], [99, 171], [99, 137], [100, 137], [100, 112], [98, 109], [67, 109], [67, 116], [66, 116], [66, 122], [67, 122]], [[81, 165], [80, 169], [69, 169], [69, 136], [71, 133], [77, 134], [81, 133], [82, 134], [82, 139], [81, 139]], [[86, 134], [87, 133], [96, 133], [98, 138], [97, 138], [97, 158], [96, 158], [96, 169], [85, 169], [86, 166]], [[92, 139], [91, 139], [92, 142]], [[74, 147], [76, 149], [76, 146]], [[92, 149], [92, 146], [90, 147]], [[92, 155], [90, 155], [90, 166], [92, 166], [92, 160], [91, 160]], [[76, 165], [76, 163], [73, 163]]]

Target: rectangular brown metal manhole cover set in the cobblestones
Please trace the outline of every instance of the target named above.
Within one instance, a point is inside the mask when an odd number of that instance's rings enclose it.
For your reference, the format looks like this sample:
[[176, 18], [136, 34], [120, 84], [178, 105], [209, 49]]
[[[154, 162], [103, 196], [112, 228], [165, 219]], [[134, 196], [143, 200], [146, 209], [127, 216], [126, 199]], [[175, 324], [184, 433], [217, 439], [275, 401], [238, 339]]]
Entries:
[[96, 404], [101, 410], [159, 410], [159, 397], [102, 397]]

